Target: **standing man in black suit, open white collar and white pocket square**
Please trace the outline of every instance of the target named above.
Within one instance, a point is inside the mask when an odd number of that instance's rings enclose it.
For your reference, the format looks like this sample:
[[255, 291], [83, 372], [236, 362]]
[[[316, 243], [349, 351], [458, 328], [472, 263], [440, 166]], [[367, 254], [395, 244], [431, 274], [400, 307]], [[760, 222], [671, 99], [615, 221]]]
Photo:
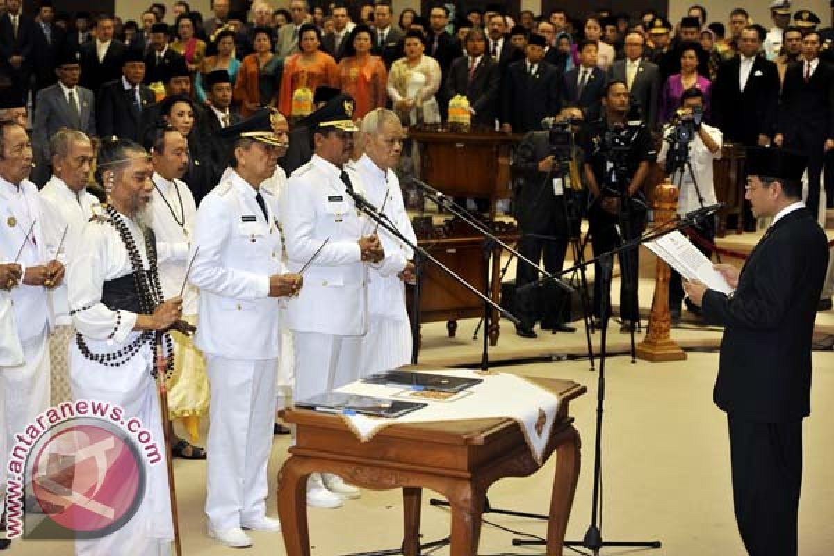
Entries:
[[759, 33], [747, 26], [738, 40], [739, 54], [718, 68], [712, 119], [727, 143], [769, 145], [776, 130], [779, 73], [758, 54], [760, 47]]

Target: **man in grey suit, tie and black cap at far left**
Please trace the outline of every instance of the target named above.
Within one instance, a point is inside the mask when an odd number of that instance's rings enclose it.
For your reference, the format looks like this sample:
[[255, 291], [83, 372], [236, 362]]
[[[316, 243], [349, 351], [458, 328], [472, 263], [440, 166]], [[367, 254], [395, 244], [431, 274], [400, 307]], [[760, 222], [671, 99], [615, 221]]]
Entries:
[[38, 185], [49, 179], [53, 155], [49, 141], [59, 129], [75, 129], [88, 137], [97, 135], [93, 92], [78, 86], [81, 75], [78, 52], [62, 48], [58, 51], [57, 65], [58, 83], [41, 89], [35, 103], [32, 143], [37, 166], [32, 180]]

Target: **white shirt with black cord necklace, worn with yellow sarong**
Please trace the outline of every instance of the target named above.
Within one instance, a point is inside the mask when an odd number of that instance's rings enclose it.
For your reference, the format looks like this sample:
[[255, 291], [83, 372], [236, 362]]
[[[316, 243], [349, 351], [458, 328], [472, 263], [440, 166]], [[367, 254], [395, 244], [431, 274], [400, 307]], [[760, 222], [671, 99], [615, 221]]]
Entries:
[[[197, 203], [185, 183], [153, 173], [153, 193], [144, 221], [156, 235], [159, 282], [166, 299], [179, 295], [188, 268], [188, 249], [197, 219]], [[179, 221], [179, 222], [178, 222]], [[197, 314], [198, 290], [188, 284], [183, 292], [183, 314]]]

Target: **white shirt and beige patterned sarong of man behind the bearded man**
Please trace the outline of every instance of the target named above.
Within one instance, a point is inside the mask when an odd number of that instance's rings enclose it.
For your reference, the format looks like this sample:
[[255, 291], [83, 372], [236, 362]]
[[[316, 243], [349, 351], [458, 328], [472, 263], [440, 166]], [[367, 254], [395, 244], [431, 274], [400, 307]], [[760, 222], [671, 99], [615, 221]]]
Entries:
[[[63, 240], [61, 253], [56, 258], [63, 265], [68, 264], [78, 243], [84, 225], [93, 216], [93, 206], [98, 204], [98, 198], [82, 189], [75, 193], [61, 178], [53, 176], [40, 192], [44, 208], [48, 208], [53, 217], [48, 218], [44, 225], [48, 228], [50, 245], [57, 250], [61, 243], [64, 229], [67, 231]], [[52, 363], [52, 404], [66, 402], [71, 398], [69, 388], [69, 362], [67, 353], [69, 343], [73, 339], [75, 328], [73, 318], [69, 316], [67, 305], [67, 282], [50, 291], [52, 308], [55, 313], [55, 328], [49, 335], [49, 359]]]

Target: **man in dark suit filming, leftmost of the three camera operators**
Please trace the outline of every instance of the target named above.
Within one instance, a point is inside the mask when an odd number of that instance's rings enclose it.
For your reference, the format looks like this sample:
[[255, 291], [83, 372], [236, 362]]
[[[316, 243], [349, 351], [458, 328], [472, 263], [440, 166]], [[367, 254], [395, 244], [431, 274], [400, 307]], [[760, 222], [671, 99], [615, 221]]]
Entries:
[[[565, 189], [579, 191], [582, 188], [577, 171], [581, 162], [577, 162], [579, 154], [573, 140], [581, 119], [580, 108], [563, 108], [556, 118], [542, 120], [545, 131], [525, 134], [512, 166], [513, 173], [520, 178], [515, 205], [521, 233], [519, 253], [534, 263], [539, 263], [544, 255], [545, 270], [549, 273], [559, 273], [565, 263], [570, 233]], [[549, 125], [545, 126], [545, 123]], [[571, 225], [578, 228], [579, 222]], [[523, 261], [516, 263], [515, 310], [521, 324], [515, 327], [515, 332], [522, 338], [535, 338], [533, 327], [538, 304], [534, 302], [534, 290], [519, 293], [519, 288], [538, 278], [540, 275], [535, 268]], [[555, 329], [574, 331], [564, 323], [557, 324]]]

